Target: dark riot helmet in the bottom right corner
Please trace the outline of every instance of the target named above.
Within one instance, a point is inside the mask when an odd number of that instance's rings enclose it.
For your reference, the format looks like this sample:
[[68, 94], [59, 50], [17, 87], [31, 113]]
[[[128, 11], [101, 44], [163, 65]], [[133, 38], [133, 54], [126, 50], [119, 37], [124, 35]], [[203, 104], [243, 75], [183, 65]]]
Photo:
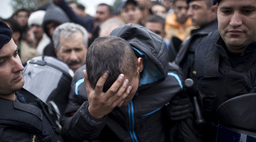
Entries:
[[256, 93], [240, 95], [217, 108], [216, 142], [256, 142]]

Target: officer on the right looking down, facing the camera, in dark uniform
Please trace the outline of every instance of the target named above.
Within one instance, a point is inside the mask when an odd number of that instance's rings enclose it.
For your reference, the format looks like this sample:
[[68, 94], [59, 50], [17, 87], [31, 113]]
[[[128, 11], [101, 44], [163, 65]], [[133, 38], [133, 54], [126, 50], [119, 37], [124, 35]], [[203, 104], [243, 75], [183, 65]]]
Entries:
[[184, 75], [196, 82], [205, 120], [198, 126], [191, 115], [180, 122], [179, 132], [183, 141], [188, 142], [215, 141], [217, 107], [233, 97], [256, 93], [256, 3], [254, 0], [212, 2], [218, 3], [219, 30], [192, 36], [175, 59]]

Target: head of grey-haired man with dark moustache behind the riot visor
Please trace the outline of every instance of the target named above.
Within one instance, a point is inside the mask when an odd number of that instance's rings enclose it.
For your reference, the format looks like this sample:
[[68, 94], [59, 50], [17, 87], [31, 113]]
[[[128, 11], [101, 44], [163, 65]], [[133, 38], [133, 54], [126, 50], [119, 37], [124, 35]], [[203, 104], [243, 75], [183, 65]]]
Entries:
[[58, 26], [53, 33], [53, 43], [57, 58], [74, 72], [85, 64], [88, 33], [81, 25], [64, 23]]

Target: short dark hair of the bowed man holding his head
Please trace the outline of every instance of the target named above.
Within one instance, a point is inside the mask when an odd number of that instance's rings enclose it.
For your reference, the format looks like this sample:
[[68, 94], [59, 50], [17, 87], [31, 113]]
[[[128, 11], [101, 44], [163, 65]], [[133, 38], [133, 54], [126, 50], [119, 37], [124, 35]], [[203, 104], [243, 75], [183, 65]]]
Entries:
[[93, 88], [99, 77], [109, 71], [103, 92], [110, 88], [119, 74], [122, 73], [129, 79], [137, 75], [137, 57], [134, 50], [126, 40], [116, 36], [96, 38], [87, 51], [85, 64]]

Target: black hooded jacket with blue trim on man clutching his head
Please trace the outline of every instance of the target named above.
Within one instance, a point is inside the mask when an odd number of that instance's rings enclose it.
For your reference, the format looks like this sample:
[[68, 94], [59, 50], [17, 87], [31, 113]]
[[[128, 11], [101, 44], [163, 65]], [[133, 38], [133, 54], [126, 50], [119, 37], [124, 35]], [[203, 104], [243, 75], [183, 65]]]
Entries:
[[[61, 119], [61, 133], [70, 141], [96, 138], [102, 141], [167, 141], [169, 119], [165, 104], [181, 91], [182, 84], [176, 72], [168, 72], [164, 40], [134, 24], [117, 28], [111, 35], [127, 40], [136, 55], [143, 58], [144, 69], [137, 94], [128, 106], [115, 108], [102, 119], [95, 119], [88, 113], [82, 72], [85, 66], [81, 67], [72, 82], [67, 115]], [[178, 68], [171, 69], [177, 71]], [[69, 113], [76, 110], [75, 115], [70, 117]]]

